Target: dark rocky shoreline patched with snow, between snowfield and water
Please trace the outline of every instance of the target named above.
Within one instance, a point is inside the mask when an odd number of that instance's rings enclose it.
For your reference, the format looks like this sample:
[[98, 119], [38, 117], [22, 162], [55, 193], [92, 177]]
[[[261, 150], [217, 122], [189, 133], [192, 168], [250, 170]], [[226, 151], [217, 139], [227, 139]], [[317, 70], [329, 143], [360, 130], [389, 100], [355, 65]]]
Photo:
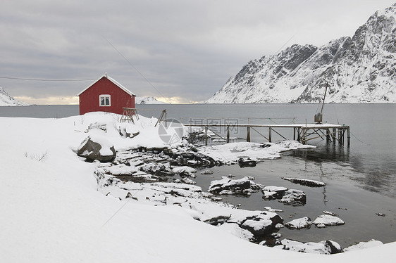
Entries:
[[[246, 155], [249, 150], [271, 146], [273, 145], [268, 143], [256, 144], [249, 148], [242, 146], [245, 148], [239, 150]], [[236, 151], [235, 148], [233, 151]], [[120, 200], [133, 200], [156, 206], [179, 205], [188, 210], [194, 219], [220, 227], [235, 236], [260, 245], [321, 254], [343, 251], [341, 246], [332, 240], [301, 243], [297, 240], [280, 239], [281, 235], [277, 233], [283, 227], [309, 229], [312, 225], [323, 228], [345, 224], [333, 212], [323, 211], [323, 214], [314, 220], [302, 217], [285, 222], [276, 213], [278, 211], [271, 210], [271, 207], [264, 211], [242, 210], [235, 205], [223, 203], [222, 198], [224, 195], [249, 197], [252, 193], [261, 192], [264, 200], [278, 200], [285, 205], [302, 206], [307, 200], [304, 191], [256, 184], [252, 177], [233, 179], [224, 176], [220, 180], [211, 181], [207, 192], [197, 186], [194, 178], [202, 176], [199, 174], [213, 173], [213, 167], [236, 164], [242, 167], [241, 162], [245, 160], [250, 165], [256, 165], [256, 162], [261, 161], [254, 158], [254, 155], [221, 159], [202, 153], [206, 150], [191, 143], [184, 143], [173, 147], [141, 146], [118, 151], [112, 162], [97, 162], [95, 177], [98, 191]], [[308, 179], [283, 179], [310, 187], [325, 185], [323, 182]]]

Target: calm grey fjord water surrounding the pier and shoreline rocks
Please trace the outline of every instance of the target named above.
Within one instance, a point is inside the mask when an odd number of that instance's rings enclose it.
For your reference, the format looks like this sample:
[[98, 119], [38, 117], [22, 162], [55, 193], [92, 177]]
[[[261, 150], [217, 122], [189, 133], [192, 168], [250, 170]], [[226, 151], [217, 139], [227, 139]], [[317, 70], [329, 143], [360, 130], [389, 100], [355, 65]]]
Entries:
[[[180, 122], [232, 123], [305, 123], [312, 122], [318, 105], [314, 104], [253, 104], [253, 105], [137, 105], [137, 112], [146, 117], [159, 117], [167, 110], [168, 118]], [[256, 177], [259, 184], [286, 186], [307, 193], [307, 205], [290, 207], [276, 200], [266, 201], [261, 193], [249, 198], [224, 197], [249, 210], [264, 206], [281, 209], [285, 222], [308, 216], [315, 219], [323, 210], [339, 215], [344, 226], [326, 229], [281, 229], [283, 238], [300, 241], [331, 239], [343, 248], [371, 238], [389, 243], [396, 240], [396, 104], [330, 104], [325, 105], [323, 122], [349, 125], [351, 145], [326, 144], [321, 139], [310, 141], [316, 149], [284, 153], [278, 160], [266, 160], [256, 167], [237, 165], [214, 167], [211, 176], [200, 175], [196, 181], [207, 189], [210, 181], [233, 174], [236, 178]], [[68, 117], [78, 115], [78, 105], [42, 105], [33, 107], [0, 107], [3, 117]], [[292, 117], [295, 117], [293, 120]], [[209, 120], [208, 120], [209, 118]], [[248, 120], [249, 118], [249, 120]], [[258, 119], [261, 118], [261, 119]], [[270, 119], [271, 118], [271, 119]], [[291, 131], [278, 129], [287, 139]], [[221, 129], [219, 134], [225, 134]], [[267, 135], [268, 129], [259, 130]], [[280, 136], [273, 141], [280, 140]], [[245, 129], [235, 129], [231, 136], [245, 138]], [[252, 131], [252, 141], [266, 141]], [[281, 177], [299, 177], [326, 182], [322, 188], [292, 184]], [[327, 201], [324, 201], [327, 200]], [[376, 213], [383, 213], [379, 217]]]

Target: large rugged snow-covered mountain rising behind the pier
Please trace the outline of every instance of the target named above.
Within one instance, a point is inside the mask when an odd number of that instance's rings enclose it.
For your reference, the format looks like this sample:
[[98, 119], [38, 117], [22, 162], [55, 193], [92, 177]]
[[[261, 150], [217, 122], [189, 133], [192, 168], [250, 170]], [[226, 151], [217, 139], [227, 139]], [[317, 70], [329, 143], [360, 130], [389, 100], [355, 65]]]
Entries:
[[396, 103], [396, 4], [352, 38], [249, 61], [205, 103]]

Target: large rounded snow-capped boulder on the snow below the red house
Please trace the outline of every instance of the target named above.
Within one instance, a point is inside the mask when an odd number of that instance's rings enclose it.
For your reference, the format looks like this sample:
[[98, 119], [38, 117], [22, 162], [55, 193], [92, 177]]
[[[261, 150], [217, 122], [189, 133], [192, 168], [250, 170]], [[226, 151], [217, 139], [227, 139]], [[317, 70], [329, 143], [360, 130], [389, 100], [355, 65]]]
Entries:
[[114, 146], [99, 136], [88, 136], [82, 141], [77, 151], [78, 156], [86, 158], [88, 162], [98, 160], [99, 162], [111, 162], [116, 158]]

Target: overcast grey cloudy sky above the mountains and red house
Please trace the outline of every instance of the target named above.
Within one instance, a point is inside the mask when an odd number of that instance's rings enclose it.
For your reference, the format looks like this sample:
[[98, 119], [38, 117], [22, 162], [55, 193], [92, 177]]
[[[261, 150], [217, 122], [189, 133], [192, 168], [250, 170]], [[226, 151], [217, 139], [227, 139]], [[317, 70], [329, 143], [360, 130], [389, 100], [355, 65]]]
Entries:
[[0, 86], [27, 103], [78, 103], [92, 80], [4, 77], [98, 79], [107, 72], [137, 96], [204, 101], [249, 60], [352, 37], [394, 2], [2, 0]]

